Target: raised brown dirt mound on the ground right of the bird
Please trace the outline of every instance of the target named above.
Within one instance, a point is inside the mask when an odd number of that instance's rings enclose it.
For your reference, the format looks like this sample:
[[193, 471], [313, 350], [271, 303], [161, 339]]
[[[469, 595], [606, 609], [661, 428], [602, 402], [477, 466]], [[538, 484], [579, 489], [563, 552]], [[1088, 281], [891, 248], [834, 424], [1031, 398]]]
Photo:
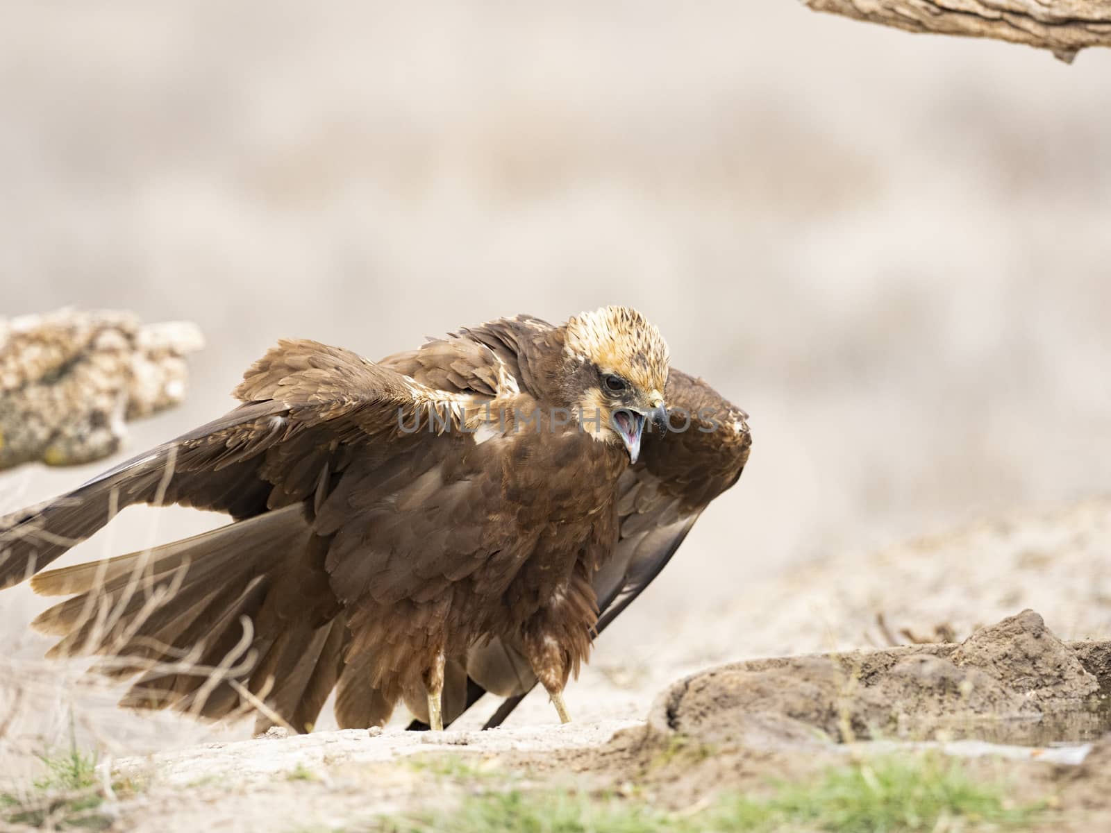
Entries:
[[994, 740], [993, 727], [1087, 709], [1100, 691], [1084, 662], [1095, 655], [1093, 645], [1063, 643], [1027, 610], [960, 645], [762, 660], [702, 672], [658, 697], [649, 732], [761, 747], [872, 737]]

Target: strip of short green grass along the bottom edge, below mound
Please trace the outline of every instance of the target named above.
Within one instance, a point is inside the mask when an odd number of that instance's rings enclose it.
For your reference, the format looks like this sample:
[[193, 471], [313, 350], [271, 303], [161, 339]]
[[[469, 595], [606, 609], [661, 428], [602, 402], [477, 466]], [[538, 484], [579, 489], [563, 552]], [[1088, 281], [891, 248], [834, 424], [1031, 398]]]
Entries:
[[937, 755], [872, 759], [828, 770], [810, 783], [781, 784], [765, 799], [730, 795], [694, 813], [585, 792], [483, 792], [450, 811], [381, 820], [386, 833], [711, 833], [779, 830], [915, 833], [947, 822], [961, 830], [1027, 824], [1041, 805], [1015, 806], [1001, 782]]

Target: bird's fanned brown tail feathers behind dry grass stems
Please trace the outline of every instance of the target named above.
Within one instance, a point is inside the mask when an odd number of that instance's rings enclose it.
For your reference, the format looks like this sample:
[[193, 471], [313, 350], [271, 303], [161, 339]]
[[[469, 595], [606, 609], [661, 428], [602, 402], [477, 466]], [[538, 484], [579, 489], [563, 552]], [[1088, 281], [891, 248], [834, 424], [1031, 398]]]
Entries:
[[[347, 640], [334, 598], [317, 598], [323, 550], [301, 504], [108, 561], [52, 570], [32, 586], [77, 592], [34, 621], [61, 636], [49, 655], [99, 653], [97, 671], [140, 676], [121, 701], [204, 717], [244, 707], [242, 686], [299, 731], [316, 721], [342, 669]], [[251, 656], [233, 652], [243, 619]], [[239, 664], [242, 686], [211, 670]], [[184, 668], [182, 668], [184, 665]]]

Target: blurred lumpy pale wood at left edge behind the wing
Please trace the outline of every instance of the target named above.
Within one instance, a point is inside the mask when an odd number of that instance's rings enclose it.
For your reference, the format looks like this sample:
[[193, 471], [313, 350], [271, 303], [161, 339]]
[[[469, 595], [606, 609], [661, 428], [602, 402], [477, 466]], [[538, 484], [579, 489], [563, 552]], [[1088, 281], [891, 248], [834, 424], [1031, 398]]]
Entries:
[[124, 421], [184, 398], [194, 324], [60, 310], [0, 319], [0, 469], [86, 463], [116, 452]]

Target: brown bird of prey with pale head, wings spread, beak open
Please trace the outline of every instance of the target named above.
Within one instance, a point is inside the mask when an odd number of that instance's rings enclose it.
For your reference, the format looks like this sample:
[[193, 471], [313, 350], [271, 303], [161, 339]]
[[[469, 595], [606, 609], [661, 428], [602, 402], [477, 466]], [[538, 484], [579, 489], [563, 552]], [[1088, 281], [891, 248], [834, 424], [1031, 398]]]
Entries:
[[[48, 655], [101, 654], [121, 704], [308, 731], [403, 700], [442, 729], [484, 690], [563, 688], [748, 458], [747, 416], [608, 307], [520, 315], [379, 362], [281, 341], [240, 404], [0, 519], [0, 588], [70, 595]], [[230, 523], [39, 572], [134, 503]], [[137, 679], [136, 679], [137, 678]], [[514, 701], [510, 701], [511, 703]], [[511, 706], [510, 706], [511, 707]]]

